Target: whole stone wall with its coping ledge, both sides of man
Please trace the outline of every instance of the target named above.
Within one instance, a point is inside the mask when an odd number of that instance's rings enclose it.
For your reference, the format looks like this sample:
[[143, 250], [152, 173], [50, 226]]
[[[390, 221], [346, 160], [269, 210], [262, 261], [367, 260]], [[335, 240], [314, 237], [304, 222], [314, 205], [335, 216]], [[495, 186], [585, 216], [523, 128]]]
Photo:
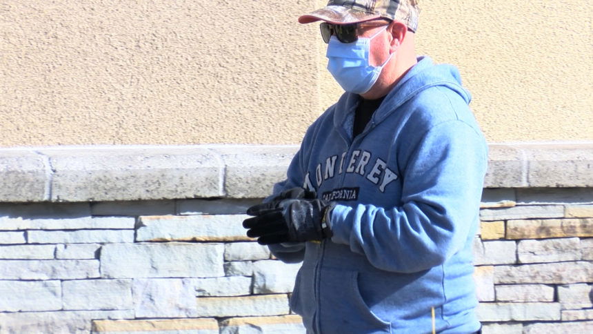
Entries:
[[[0, 333], [304, 333], [245, 237], [295, 146], [0, 150]], [[491, 145], [484, 333], [593, 333], [593, 144]]]

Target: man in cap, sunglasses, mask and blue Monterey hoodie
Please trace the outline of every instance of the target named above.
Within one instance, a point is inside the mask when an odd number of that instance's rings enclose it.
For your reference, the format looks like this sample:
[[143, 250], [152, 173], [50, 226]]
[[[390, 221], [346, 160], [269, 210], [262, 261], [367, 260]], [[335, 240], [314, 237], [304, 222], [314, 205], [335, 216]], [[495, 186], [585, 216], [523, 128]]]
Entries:
[[321, 22], [344, 88], [243, 223], [284, 262], [308, 333], [476, 333], [472, 239], [487, 146], [453, 66], [416, 58], [414, 0], [343, 1]]

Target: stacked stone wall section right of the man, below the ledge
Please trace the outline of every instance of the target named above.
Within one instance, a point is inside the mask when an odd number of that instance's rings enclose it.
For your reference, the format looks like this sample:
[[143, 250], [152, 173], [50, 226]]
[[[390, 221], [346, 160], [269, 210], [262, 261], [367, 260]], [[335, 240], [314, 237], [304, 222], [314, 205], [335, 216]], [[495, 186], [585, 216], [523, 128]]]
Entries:
[[592, 333], [593, 188], [487, 188], [480, 214], [484, 333]]

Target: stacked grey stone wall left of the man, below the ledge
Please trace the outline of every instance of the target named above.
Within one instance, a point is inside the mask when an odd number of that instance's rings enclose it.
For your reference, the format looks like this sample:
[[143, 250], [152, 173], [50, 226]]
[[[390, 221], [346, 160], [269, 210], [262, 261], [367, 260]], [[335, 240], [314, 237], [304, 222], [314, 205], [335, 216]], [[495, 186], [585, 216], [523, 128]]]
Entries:
[[302, 333], [260, 200], [0, 204], [0, 333]]

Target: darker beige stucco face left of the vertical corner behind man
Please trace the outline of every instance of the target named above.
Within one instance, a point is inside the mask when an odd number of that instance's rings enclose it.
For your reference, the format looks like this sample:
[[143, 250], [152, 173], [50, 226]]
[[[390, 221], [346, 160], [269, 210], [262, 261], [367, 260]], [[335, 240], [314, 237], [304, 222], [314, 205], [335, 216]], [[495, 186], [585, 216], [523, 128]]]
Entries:
[[316, 117], [309, 7], [3, 1], [0, 146], [297, 142]]

